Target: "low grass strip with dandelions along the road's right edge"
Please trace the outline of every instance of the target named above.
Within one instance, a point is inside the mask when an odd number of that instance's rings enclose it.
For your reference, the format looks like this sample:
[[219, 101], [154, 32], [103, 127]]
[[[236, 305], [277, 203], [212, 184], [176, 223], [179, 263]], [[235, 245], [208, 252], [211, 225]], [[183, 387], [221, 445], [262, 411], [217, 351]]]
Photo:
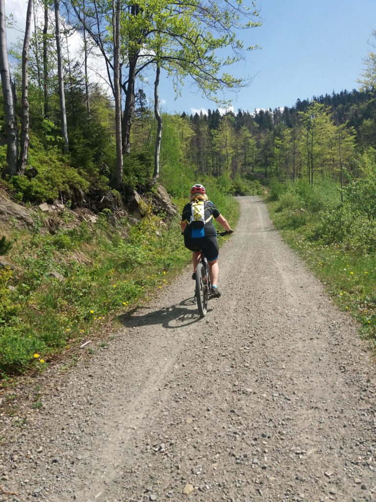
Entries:
[[[285, 204], [286, 194], [282, 197]], [[302, 202], [298, 204], [300, 207]], [[291, 204], [281, 208], [280, 200], [268, 203], [276, 228], [324, 283], [342, 310], [360, 323], [360, 331], [376, 343], [376, 256], [342, 242], [323, 243], [312, 238], [320, 212], [291, 212]]]

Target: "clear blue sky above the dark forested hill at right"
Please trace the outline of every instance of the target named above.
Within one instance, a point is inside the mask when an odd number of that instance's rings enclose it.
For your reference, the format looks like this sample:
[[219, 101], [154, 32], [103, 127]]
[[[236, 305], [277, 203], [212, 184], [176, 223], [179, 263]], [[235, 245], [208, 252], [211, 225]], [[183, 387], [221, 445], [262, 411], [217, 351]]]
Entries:
[[[261, 50], [248, 54], [235, 75], [253, 75], [252, 84], [234, 97], [234, 109], [253, 111], [292, 106], [298, 98], [357, 88], [376, 29], [376, 0], [257, 0], [263, 26], [243, 32], [245, 45]], [[189, 112], [217, 106], [187, 83], [173, 98], [172, 86], [161, 82], [165, 111]]]

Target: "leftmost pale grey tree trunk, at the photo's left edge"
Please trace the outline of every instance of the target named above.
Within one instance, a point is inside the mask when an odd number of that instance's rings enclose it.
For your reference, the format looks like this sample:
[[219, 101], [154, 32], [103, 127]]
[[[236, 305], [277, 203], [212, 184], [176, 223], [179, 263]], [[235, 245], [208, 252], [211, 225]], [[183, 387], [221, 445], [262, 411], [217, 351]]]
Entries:
[[0, 73], [7, 130], [7, 164], [4, 174], [15, 175], [18, 161], [18, 127], [7, 52], [5, 0], [0, 0]]

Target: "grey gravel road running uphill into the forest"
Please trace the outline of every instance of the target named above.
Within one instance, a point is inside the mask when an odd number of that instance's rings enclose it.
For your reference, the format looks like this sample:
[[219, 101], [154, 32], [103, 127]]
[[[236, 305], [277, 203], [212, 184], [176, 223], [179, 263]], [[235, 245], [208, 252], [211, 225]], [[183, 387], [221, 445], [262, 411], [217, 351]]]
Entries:
[[0, 501], [376, 500], [374, 361], [262, 201], [238, 200], [206, 318], [187, 268], [0, 417]]

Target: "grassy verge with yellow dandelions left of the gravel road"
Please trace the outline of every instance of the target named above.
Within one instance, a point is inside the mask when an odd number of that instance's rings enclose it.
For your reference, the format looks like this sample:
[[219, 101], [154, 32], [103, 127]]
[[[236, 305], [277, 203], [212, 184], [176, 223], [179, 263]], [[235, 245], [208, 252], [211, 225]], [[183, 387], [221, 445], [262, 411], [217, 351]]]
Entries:
[[[235, 224], [239, 207], [221, 199]], [[179, 201], [179, 206], [184, 201]], [[222, 209], [222, 208], [221, 208]], [[43, 370], [57, 353], [100, 333], [116, 316], [147, 302], [190, 262], [179, 218], [144, 208], [129, 227], [104, 211], [94, 225], [83, 221], [55, 235], [12, 230], [7, 260], [0, 268], [0, 374]]]

